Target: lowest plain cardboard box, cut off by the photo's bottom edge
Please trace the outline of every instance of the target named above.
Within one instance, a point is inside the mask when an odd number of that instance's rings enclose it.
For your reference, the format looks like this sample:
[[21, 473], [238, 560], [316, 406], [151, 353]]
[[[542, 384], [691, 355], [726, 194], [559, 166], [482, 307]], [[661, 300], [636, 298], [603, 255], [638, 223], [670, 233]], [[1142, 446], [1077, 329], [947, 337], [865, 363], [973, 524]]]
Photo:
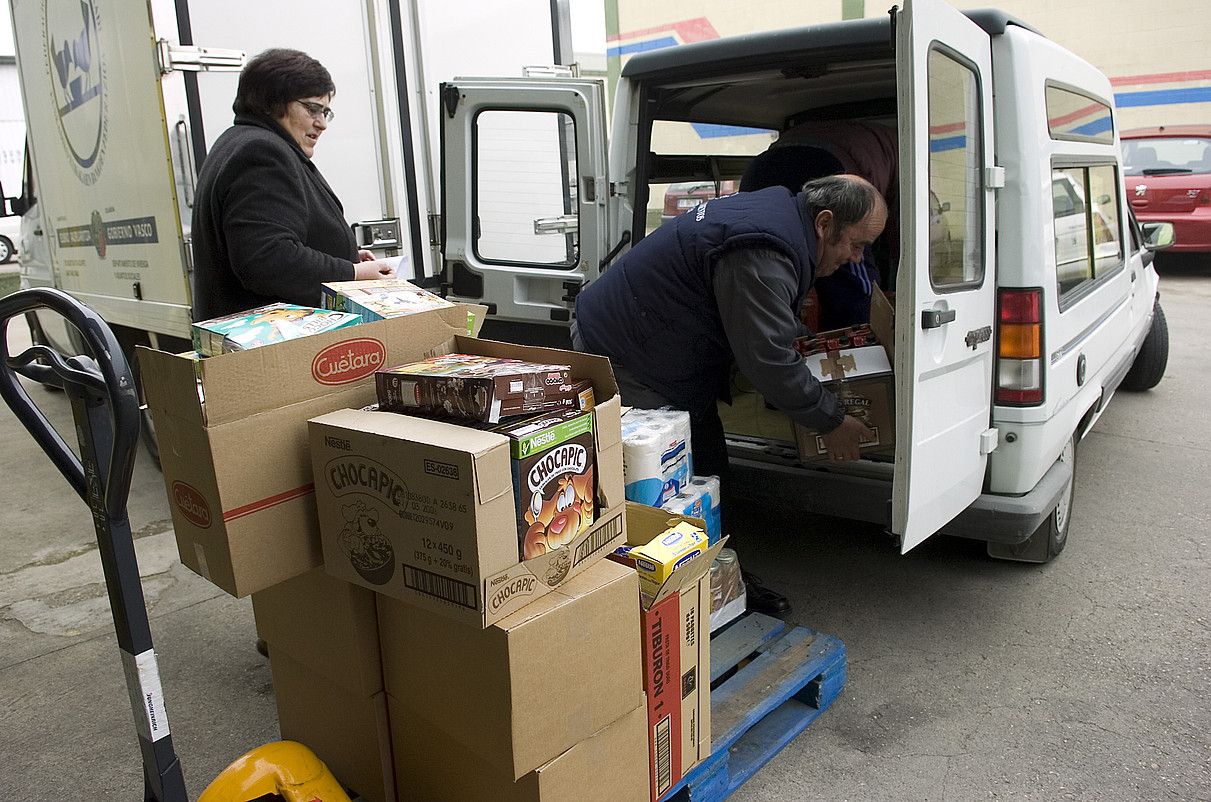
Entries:
[[631, 802], [647, 798], [647, 710], [641, 704], [552, 761], [513, 780], [457, 738], [389, 699], [401, 800], [426, 802]]

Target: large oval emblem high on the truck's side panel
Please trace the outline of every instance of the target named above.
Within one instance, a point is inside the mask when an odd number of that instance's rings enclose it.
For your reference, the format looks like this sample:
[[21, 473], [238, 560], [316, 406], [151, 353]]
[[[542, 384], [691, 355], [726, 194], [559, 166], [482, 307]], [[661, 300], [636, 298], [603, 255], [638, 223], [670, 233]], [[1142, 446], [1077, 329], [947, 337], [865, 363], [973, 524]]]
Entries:
[[97, 8], [93, 0], [48, 0], [44, 13], [44, 47], [59, 133], [76, 178], [91, 187], [101, 176], [108, 127]]

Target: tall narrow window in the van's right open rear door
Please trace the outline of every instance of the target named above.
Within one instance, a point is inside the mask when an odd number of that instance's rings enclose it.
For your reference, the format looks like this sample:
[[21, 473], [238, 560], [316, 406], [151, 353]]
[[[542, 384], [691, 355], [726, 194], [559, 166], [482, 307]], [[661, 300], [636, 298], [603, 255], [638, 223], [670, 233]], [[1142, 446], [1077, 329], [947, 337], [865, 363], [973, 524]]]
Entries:
[[929, 55], [929, 279], [937, 288], [983, 281], [982, 116], [975, 71]]

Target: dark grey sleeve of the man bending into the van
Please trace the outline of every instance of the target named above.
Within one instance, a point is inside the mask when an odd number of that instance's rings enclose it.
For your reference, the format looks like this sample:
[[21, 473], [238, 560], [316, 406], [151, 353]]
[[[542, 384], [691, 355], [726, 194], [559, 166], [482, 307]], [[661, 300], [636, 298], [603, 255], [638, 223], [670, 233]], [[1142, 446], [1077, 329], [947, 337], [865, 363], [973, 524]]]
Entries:
[[740, 372], [788, 418], [820, 432], [840, 425], [837, 397], [811, 376], [792, 346], [799, 332], [793, 304], [798, 280], [791, 260], [768, 250], [741, 248], [714, 267], [714, 297]]

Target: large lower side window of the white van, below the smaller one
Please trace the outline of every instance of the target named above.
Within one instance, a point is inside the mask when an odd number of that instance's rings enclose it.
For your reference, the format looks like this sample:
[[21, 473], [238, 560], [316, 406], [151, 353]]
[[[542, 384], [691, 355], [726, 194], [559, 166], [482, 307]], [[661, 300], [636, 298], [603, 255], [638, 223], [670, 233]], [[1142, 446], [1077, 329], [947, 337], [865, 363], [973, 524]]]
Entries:
[[1060, 300], [1123, 264], [1119, 176], [1114, 165], [1051, 171]]

